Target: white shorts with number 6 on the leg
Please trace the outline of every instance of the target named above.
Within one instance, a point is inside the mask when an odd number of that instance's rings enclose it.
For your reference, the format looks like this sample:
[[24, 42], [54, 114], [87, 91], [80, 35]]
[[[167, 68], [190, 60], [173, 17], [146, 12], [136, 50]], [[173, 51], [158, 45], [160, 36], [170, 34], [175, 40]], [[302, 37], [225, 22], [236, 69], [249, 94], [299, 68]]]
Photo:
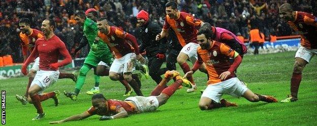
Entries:
[[188, 43], [182, 48], [180, 52], [186, 54], [189, 57], [189, 60], [191, 60], [192, 63], [193, 62], [195, 63], [196, 60], [198, 59], [198, 56], [197, 56], [198, 47], [199, 47], [199, 44]]

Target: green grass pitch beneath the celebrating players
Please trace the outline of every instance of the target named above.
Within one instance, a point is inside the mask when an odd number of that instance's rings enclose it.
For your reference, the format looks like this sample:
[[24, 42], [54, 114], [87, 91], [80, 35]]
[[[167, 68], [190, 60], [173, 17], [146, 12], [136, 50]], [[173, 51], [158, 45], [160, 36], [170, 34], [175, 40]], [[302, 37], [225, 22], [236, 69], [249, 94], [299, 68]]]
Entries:
[[[275, 96], [279, 101], [290, 94], [290, 79], [293, 71], [295, 52], [245, 56], [238, 68], [238, 77], [248, 84], [248, 88], [259, 94]], [[178, 70], [181, 69], [178, 67]], [[183, 75], [183, 73], [181, 73]], [[207, 77], [197, 71], [194, 74], [198, 90], [186, 93], [186, 88], [176, 91], [169, 101], [152, 113], [130, 115], [128, 118], [99, 121], [98, 115], [80, 121], [70, 121], [55, 125], [317, 125], [317, 58], [313, 57], [303, 71], [299, 89], [299, 101], [295, 103], [251, 103], [244, 98], [224, 95], [223, 98], [236, 102], [238, 107], [201, 111], [198, 107], [199, 90], [205, 89]], [[60, 95], [59, 106], [53, 100], [42, 102], [46, 117], [32, 121], [36, 109], [32, 104], [21, 105], [15, 94], [25, 92], [27, 77], [1, 80], [1, 90], [7, 91], [6, 125], [49, 125], [49, 121], [64, 119], [86, 111], [91, 106], [91, 96], [85, 92], [94, 85], [92, 71], [77, 101]], [[155, 87], [151, 79], [142, 78], [142, 92], [149, 96]], [[171, 83], [171, 82], [170, 82]], [[170, 84], [169, 83], [169, 84]], [[59, 79], [46, 92], [53, 90], [73, 91], [75, 83], [71, 79]], [[124, 88], [118, 81], [107, 76], [101, 77], [101, 93], [107, 99], [124, 100]], [[132, 94], [135, 96], [135, 93]]]

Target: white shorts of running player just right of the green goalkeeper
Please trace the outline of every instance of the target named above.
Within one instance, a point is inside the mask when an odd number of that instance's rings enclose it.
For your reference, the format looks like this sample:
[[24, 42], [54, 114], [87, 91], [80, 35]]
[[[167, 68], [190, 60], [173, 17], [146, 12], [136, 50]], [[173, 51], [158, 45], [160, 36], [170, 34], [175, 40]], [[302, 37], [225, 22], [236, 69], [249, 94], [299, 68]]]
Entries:
[[114, 59], [109, 72], [126, 73], [135, 70], [136, 54], [129, 53], [119, 59]]

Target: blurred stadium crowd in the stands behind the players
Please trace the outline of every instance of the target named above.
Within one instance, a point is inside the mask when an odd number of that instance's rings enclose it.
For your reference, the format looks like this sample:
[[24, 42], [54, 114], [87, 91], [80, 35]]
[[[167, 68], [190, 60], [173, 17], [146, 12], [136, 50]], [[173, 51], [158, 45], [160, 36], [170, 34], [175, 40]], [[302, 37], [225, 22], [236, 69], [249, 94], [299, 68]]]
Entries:
[[[94, 8], [100, 12], [100, 17], [107, 17], [110, 22], [136, 35], [138, 28], [136, 16], [140, 10], [149, 12], [149, 18], [163, 26], [165, 4], [167, 1], [143, 0], [99, 0], [99, 1], [68, 1], [68, 0], [1, 0], [0, 12], [0, 55], [12, 55], [14, 63], [22, 63], [22, 52], [18, 34], [19, 19], [29, 18], [31, 27], [40, 29], [41, 22], [52, 18], [56, 24], [55, 34], [65, 42], [69, 52], [74, 52], [78, 46], [82, 31], [76, 25], [74, 13]], [[248, 38], [250, 27], [259, 27], [260, 31], [269, 36], [295, 34], [288, 24], [278, 17], [278, 7], [289, 1], [246, 1], [246, 0], [178, 0], [179, 10], [195, 15], [204, 22], [223, 27], [235, 34]], [[292, 1], [294, 10], [300, 10], [317, 15], [316, 1]], [[295, 6], [296, 5], [296, 6]], [[137, 35], [136, 35], [137, 36]], [[89, 51], [86, 46], [80, 55], [85, 57]]]

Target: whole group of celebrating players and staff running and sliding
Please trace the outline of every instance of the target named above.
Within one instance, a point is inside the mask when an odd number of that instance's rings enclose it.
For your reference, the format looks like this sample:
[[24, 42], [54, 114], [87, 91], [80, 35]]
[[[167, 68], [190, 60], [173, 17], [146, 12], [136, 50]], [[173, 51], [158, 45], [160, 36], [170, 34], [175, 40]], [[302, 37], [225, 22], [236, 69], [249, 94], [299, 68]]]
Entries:
[[[237, 68], [242, 62], [243, 55], [247, 53], [247, 48], [235, 34], [224, 28], [211, 26], [191, 14], [180, 12], [175, 2], [168, 2], [165, 7], [166, 17], [163, 27], [149, 20], [146, 11], [142, 10], [138, 13], [137, 22], [141, 27], [139, 32], [142, 34], [139, 38], [141, 45], [134, 35], [114, 26], [105, 17], [99, 18], [98, 12], [94, 9], [88, 9], [85, 13], [75, 13], [77, 25], [82, 27], [84, 33], [80, 47], [75, 53], [87, 44], [90, 46], [78, 77], [75, 73], [60, 73], [58, 70], [59, 67], [70, 64], [72, 57], [64, 42], [54, 34], [55, 21], [45, 19], [40, 31], [30, 28], [29, 19], [21, 19], [20, 38], [23, 42], [24, 57], [21, 69], [24, 75], [29, 76], [29, 80], [26, 93], [24, 96], [16, 95], [17, 100], [23, 105], [30, 103], [35, 106], [37, 115], [32, 120], [42, 119], [45, 117], [45, 112], [41, 102], [52, 98], [57, 106], [60, 94], [59, 90], [50, 93], [43, 91], [53, 85], [58, 78], [71, 78], [76, 82], [74, 92], [64, 91], [64, 94], [75, 101], [79, 99], [78, 95], [88, 71], [93, 68], [95, 86], [87, 92], [88, 95], [92, 95], [92, 106], [90, 108], [87, 106], [89, 109], [81, 114], [50, 123], [80, 120], [96, 114], [101, 116], [100, 120], [110, 120], [128, 117], [129, 114], [154, 111], [164, 105], [181, 87], [187, 87], [187, 93], [195, 92], [197, 85], [192, 75], [198, 69], [208, 76], [207, 88], [202, 91], [198, 103], [201, 110], [237, 106], [236, 103], [221, 99], [224, 94], [243, 97], [250, 102], [277, 102], [272, 96], [253, 93], [237, 77]], [[301, 47], [295, 55], [291, 94], [287, 99], [281, 100], [281, 102], [295, 102], [298, 101], [302, 70], [317, 54], [317, 18], [305, 12], [293, 11], [290, 4], [281, 5], [279, 13], [294, 30], [302, 33]], [[184, 76], [180, 76], [176, 68], [174, 70], [161, 68], [166, 61], [167, 37], [173, 35], [169, 31], [174, 32], [174, 37], [182, 47], [177, 50], [178, 56], [175, 55], [171, 59], [175, 60], [174, 65], [176, 62], [179, 64]], [[30, 52], [28, 57], [27, 51]], [[148, 61], [141, 55], [144, 52]], [[60, 55], [64, 60], [58, 61]], [[194, 66], [189, 66], [187, 60]], [[31, 62], [35, 63], [27, 72], [27, 66]], [[140, 76], [135, 74], [134, 70], [140, 70], [146, 78], [151, 76], [155, 81], [157, 86], [149, 97], [144, 97]], [[162, 78], [161, 75], [164, 77]], [[109, 76], [114, 81], [119, 80], [125, 87], [123, 96], [130, 96], [132, 89], [137, 96], [128, 97], [124, 101], [106, 99], [100, 93], [100, 76]], [[174, 82], [167, 86], [171, 79]]]

